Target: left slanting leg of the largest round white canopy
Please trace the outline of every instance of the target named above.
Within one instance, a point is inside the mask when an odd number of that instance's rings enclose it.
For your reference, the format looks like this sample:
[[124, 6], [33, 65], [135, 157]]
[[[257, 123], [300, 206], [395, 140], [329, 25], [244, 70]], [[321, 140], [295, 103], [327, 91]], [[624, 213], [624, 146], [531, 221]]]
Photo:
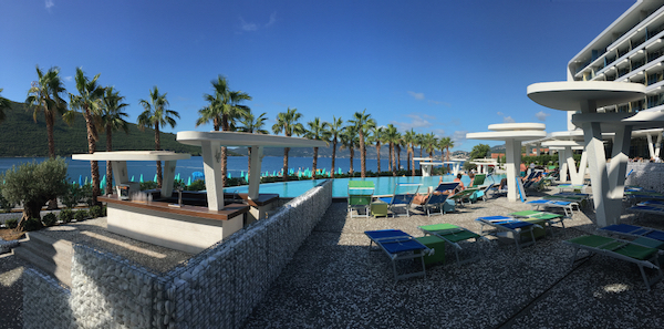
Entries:
[[604, 227], [618, 223], [621, 213], [616, 213], [609, 198], [609, 175], [606, 172], [606, 155], [602, 143], [602, 130], [599, 122], [582, 124], [585, 140], [585, 152], [590, 166], [592, 182], [592, 198], [595, 206], [596, 225]]

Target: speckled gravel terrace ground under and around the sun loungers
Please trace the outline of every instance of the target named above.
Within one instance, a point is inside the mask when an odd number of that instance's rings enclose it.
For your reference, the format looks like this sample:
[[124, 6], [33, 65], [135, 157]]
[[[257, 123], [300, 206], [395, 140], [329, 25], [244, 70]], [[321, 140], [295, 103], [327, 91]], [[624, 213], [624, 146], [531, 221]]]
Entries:
[[[584, 213], [574, 212], [567, 229], [520, 251], [513, 243], [490, 238], [481, 244], [479, 261], [457, 266], [448, 253], [452, 264], [428, 268], [426, 279], [395, 284], [387, 257], [367, 251], [364, 230], [398, 228], [422, 236], [417, 226], [452, 223], [479, 233], [475, 218], [529, 206], [501, 197], [457, 209], [430, 218], [351, 219], [345, 204], [333, 204], [245, 328], [664, 326], [664, 286], [647, 292], [635, 265], [593, 256], [572, 269], [572, 248], [561, 241], [594, 232], [593, 216]], [[657, 222], [637, 224], [662, 228]]]

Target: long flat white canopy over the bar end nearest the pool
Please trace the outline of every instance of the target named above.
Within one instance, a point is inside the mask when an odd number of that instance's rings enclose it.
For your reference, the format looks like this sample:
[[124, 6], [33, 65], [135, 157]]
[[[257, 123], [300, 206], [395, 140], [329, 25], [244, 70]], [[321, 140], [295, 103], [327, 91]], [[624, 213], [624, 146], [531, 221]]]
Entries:
[[[221, 146], [250, 147], [251, 173], [249, 175], [249, 199], [258, 199], [260, 167], [264, 147], [326, 146], [324, 141], [238, 132], [178, 132], [177, 141], [183, 144], [201, 147], [208, 208], [210, 210], [224, 209]], [[286, 174], [287, 173], [284, 173], [284, 175]]]

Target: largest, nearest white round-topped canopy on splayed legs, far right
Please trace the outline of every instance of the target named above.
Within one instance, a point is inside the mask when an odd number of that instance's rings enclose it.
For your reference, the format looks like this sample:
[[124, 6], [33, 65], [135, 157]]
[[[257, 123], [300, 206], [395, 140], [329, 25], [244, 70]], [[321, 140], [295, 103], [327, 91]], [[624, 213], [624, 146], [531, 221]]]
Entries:
[[[616, 224], [622, 214], [622, 197], [632, 131], [661, 127], [663, 112], [602, 113], [598, 109], [624, 104], [645, 96], [645, 85], [613, 81], [543, 82], [528, 86], [528, 97], [561, 111], [577, 112], [572, 122], [583, 128], [584, 147], [592, 183], [596, 224]], [[611, 163], [602, 142], [602, 132], [614, 132]]]

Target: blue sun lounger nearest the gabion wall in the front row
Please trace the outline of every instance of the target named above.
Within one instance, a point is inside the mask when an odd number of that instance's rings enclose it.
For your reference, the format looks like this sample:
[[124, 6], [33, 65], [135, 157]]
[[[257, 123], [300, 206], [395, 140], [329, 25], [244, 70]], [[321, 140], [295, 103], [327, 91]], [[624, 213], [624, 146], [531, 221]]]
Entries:
[[[421, 244], [407, 233], [400, 229], [366, 230], [364, 234], [370, 238], [369, 250], [372, 250], [372, 244], [376, 244], [390, 257], [394, 280], [406, 279], [411, 277], [426, 277], [424, 267], [424, 256], [432, 253], [432, 249]], [[396, 260], [419, 258], [422, 270], [398, 275], [396, 273]]]

